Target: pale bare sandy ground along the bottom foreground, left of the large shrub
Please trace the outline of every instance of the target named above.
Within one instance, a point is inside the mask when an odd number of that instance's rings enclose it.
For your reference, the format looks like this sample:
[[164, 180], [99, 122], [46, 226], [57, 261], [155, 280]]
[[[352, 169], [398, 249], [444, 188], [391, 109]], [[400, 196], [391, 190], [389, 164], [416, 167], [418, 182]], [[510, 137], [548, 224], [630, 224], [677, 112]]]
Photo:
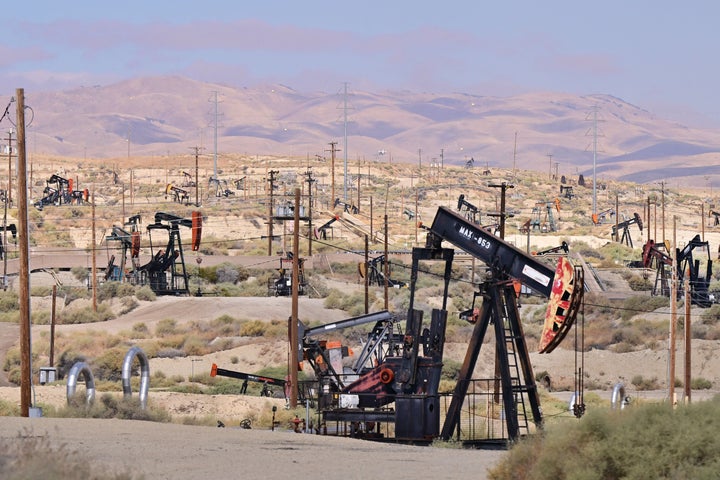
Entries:
[[0, 417], [0, 436], [46, 436], [83, 461], [147, 479], [487, 478], [503, 455], [388, 445], [288, 430], [191, 427], [130, 420]]

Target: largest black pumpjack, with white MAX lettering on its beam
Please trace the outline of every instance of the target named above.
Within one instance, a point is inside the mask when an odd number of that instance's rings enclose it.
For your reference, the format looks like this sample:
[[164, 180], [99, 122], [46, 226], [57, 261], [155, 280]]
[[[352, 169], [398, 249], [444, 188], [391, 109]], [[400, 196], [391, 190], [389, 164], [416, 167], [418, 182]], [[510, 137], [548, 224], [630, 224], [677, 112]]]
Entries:
[[[491, 275], [481, 286], [481, 311], [441, 430], [438, 387], [454, 258], [454, 250], [443, 248], [443, 241], [485, 262]], [[445, 262], [442, 306], [432, 310], [428, 328], [423, 328], [423, 311], [414, 308], [421, 261]], [[510, 439], [518, 438], [523, 429], [529, 432], [527, 403], [533, 422], [541, 425], [537, 386], [520, 324], [513, 281], [549, 299], [540, 342], [540, 351], [549, 353], [562, 341], [577, 316], [583, 296], [582, 269], [574, 268], [565, 257], [560, 257], [553, 269], [542, 258], [528, 255], [463, 216], [440, 207], [429, 228], [425, 247], [415, 247], [412, 251], [410, 300], [404, 334], [399, 337], [386, 335], [384, 338], [388, 339], [386, 343], [390, 348], [383, 349], [383, 354], [366, 368], [356, 369], [356, 380], [350, 383], [336, 381], [328, 387], [338, 390], [330, 397], [337, 400], [323, 405], [323, 422], [365, 425], [368, 433], [371, 425], [388, 423], [394, 426], [396, 440], [411, 443], [428, 442], [438, 436], [443, 439], [454, 434], [460, 436], [460, 416], [471, 376], [487, 330], [494, 325], [505, 431]], [[379, 320], [387, 320], [387, 313], [380, 315]], [[355, 318], [349, 323], [361, 321], [363, 319]], [[303, 337], [307, 339], [334, 328], [318, 327], [311, 330], [311, 335], [306, 330]], [[394, 343], [395, 339], [398, 343]], [[307, 345], [305, 350], [308, 359], [311, 355]], [[323, 377], [322, 372], [320, 376], [322, 383], [326, 376]], [[379, 435], [379, 427], [372, 433]]]

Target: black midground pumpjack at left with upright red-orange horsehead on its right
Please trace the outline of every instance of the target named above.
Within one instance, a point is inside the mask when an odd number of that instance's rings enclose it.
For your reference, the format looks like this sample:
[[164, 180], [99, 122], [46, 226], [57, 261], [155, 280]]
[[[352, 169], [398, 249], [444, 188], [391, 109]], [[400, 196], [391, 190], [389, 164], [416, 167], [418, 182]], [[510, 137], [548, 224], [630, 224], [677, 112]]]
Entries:
[[[138, 268], [142, 285], [150, 288], [158, 295], [187, 295], [188, 274], [185, 269], [185, 256], [180, 241], [180, 228], [187, 227], [192, 231], [192, 251], [200, 249], [202, 235], [202, 214], [192, 212], [192, 218], [182, 218], [170, 213], [157, 212], [155, 223], [147, 226], [150, 233], [151, 260]], [[153, 253], [152, 234], [164, 230], [168, 234], [168, 242], [164, 249]]]

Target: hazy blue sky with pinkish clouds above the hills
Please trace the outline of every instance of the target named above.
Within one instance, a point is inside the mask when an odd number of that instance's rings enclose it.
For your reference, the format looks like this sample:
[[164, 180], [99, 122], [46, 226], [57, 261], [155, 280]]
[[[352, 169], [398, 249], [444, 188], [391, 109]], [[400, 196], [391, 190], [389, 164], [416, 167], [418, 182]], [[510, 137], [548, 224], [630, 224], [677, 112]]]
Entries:
[[720, 2], [27, 0], [0, 95], [177, 74], [301, 91], [604, 93], [720, 127]]

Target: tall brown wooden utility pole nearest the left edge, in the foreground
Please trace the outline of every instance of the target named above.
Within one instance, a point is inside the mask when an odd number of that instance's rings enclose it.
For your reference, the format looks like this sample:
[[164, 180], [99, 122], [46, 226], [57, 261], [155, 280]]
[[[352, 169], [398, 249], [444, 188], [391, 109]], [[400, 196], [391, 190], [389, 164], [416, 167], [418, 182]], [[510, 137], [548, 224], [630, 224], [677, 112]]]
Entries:
[[18, 151], [18, 250], [20, 254], [18, 302], [20, 306], [20, 415], [30, 416], [32, 355], [30, 338], [30, 241], [28, 228], [27, 158], [25, 152], [25, 91], [15, 91], [17, 101]]

